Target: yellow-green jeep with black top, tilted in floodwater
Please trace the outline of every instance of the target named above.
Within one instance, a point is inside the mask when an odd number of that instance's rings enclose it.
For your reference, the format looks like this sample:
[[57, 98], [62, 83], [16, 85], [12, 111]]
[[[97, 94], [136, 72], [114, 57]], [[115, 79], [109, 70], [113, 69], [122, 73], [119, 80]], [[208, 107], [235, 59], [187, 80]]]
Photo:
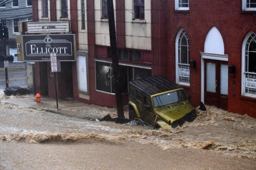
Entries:
[[184, 89], [159, 75], [129, 82], [129, 100], [129, 119], [155, 128], [176, 128], [197, 116]]

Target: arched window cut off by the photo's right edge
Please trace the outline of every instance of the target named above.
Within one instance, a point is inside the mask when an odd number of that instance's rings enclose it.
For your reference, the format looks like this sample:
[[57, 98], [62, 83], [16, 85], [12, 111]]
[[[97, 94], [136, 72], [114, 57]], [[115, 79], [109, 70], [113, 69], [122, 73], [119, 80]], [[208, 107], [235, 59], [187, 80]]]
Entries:
[[256, 98], [256, 35], [250, 32], [242, 46], [242, 95]]

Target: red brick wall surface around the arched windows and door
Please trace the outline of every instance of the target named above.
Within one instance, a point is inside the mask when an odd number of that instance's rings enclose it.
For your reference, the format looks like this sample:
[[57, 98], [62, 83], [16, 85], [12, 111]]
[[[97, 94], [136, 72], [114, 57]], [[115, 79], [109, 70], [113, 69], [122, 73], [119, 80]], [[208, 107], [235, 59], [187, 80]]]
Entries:
[[[190, 41], [190, 57], [196, 61], [191, 69], [191, 86], [185, 88], [192, 95], [191, 103], [199, 105], [201, 100], [201, 56], [208, 31], [216, 27], [224, 40], [225, 54], [230, 64], [236, 66], [236, 78], [229, 78], [228, 111], [256, 117], [256, 99], [241, 96], [242, 41], [249, 31], [255, 29], [256, 12], [241, 11], [241, 1], [189, 1], [189, 11], [175, 11], [174, 1], [166, 5], [166, 73], [175, 81], [175, 39], [180, 28], [184, 28]], [[233, 86], [235, 90], [233, 91]], [[233, 92], [235, 96], [233, 96]]]

